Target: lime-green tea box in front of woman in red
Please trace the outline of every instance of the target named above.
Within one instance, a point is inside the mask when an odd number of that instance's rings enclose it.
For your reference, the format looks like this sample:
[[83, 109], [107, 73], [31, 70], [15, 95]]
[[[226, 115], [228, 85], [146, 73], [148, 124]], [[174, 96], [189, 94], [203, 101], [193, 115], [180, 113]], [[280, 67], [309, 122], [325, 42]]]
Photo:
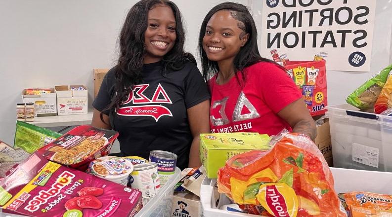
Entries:
[[269, 136], [258, 133], [200, 134], [200, 160], [209, 179], [218, 178], [218, 170], [237, 154], [254, 149], [269, 149]]

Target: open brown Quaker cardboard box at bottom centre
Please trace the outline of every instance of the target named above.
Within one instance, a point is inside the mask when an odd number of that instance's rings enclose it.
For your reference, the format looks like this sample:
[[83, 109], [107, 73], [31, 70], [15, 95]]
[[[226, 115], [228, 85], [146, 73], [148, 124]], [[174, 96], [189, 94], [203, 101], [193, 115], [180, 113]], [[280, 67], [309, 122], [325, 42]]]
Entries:
[[181, 180], [174, 188], [172, 217], [203, 217], [200, 188], [205, 177], [203, 166], [184, 169], [181, 172]]

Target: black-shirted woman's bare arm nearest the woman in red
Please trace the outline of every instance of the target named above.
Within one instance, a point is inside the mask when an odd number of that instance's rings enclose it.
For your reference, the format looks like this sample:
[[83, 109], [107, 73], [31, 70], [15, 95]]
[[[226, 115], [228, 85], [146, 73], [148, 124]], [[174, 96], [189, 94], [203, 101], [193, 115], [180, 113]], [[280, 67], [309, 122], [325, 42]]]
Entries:
[[189, 153], [189, 167], [200, 167], [200, 137], [201, 133], [210, 133], [210, 100], [205, 100], [187, 109], [190, 130], [193, 136]]

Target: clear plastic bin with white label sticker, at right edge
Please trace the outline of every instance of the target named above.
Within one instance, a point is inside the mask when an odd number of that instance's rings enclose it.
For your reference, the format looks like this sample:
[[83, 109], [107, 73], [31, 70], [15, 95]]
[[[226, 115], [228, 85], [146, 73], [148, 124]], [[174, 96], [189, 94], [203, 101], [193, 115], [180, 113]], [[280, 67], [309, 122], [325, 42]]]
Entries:
[[392, 116], [328, 106], [334, 167], [392, 172]]

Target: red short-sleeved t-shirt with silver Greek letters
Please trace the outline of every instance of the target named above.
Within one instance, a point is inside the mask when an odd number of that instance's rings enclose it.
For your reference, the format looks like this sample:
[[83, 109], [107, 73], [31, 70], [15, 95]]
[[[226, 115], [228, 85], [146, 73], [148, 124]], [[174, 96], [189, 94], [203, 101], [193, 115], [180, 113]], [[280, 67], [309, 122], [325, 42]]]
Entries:
[[[244, 69], [245, 85], [236, 76], [218, 85], [210, 79], [210, 126], [213, 133], [258, 132], [276, 135], [290, 125], [277, 113], [302, 98], [292, 78], [272, 63], [259, 62]], [[239, 80], [242, 74], [237, 73]]]

